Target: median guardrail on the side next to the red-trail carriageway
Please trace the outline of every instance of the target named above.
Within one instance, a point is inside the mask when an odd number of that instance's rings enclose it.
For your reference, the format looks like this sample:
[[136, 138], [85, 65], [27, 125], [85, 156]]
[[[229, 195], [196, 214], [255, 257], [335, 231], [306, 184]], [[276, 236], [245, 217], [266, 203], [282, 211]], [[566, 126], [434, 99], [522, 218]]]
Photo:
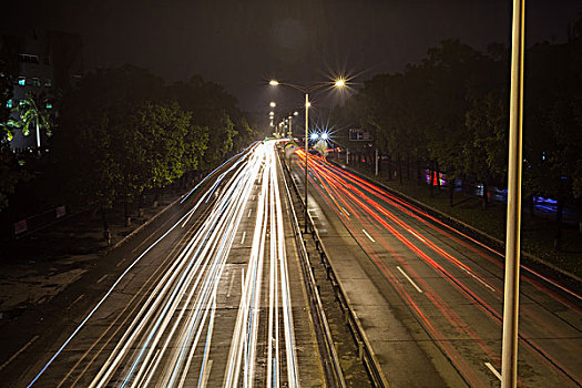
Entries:
[[[284, 162], [283, 165], [285, 166], [285, 170], [286, 170], [287, 174], [290, 177], [290, 170], [287, 166], [287, 163]], [[295, 184], [293, 178], [289, 178], [289, 181], [292, 183], [292, 187], [293, 187], [293, 190], [295, 192], [295, 195], [299, 198], [299, 203], [302, 204], [303, 210], [305, 210], [305, 201], [299, 195], [299, 190], [297, 188], [297, 185]], [[290, 193], [288, 192], [288, 188], [287, 188], [287, 193], [288, 193], [288, 195], [290, 195]], [[293, 210], [293, 215], [294, 215], [295, 221], [297, 221], [297, 217], [295, 215], [295, 211], [294, 210]], [[331, 285], [334, 287], [334, 292], [336, 294], [336, 298], [337, 298], [337, 300], [339, 303], [339, 306], [344, 310], [344, 317], [345, 317], [345, 320], [346, 320], [346, 325], [349, 327], [349, 329], [351, 331], [351, 335], [354, 336], [354, 340], [356, 341], [356, 345], [358, 347], [358, 355], [359, 355], [360, 359], [363, 360], [366, 369], [368, 370], [368, 374], [370, 375], [370, 378], [371, 378], [371, 381], [372, 381], [374, 386], [375, 387], [381, 387], [381, 388], [388, 388], [389, 387], [388, 380], [387, 380], [386, 376], [384, 375], [384, 371], [381, 370], [381, 367], [380, 367], [380, 364], [378, 361], [378, 358], [376, 357], [376, 354], [374, 353], [374, 349], [371, 348], [371, 344], [368, 340], [368, 337], [366, 336], [366, 333], [365, 333], [365, 330], [364, 330], [364, 328], [361, 326], [361, 323], [360, 323], [359, 318], [357, 317], [356, 313], [350, 307], [349, 298], [348, 298], [348, 296], [347, 296], [347, 294], [345, 292], [344, 286], [341, 285], [341, 282], [337, 278], [337, 276], [336, 276], [336, 274], [334, 272], [334, 268], [333, 268], [331, 264], [329, 263], [328, 258], [330, 256], [329, 256], [329, 254], [328, 254], [328, 252], [327, 252], [327, 249], [325, 247], [325, 244], [321, 242], [321, 238], [319, 236], [319, 232], [315, 227], [314, 221], [313, 221], [313, 218], [312, 218], [312, 216], [309, 215], [308, 212], [307, 212], [307, 225], [308, 225], [308, 227], [310, 229], [310, 233], [312, 233], [312, 236], [313, 236], [313, 238], [315, 241], [316, 248], [319, 252], [319, 258], [321, 261], [321, 264], [326, 268], [327, 277], [331, 282]], [[298, 227], [298, 224], [297, 224], [297, 228], [298, 228], [297, 233], [299, 235], [302, 235], [302, 232], [300, 232], [300, 228]], [[302, 237], [302, 243], [303, 243], [303, 237]], [[305, 244], [303, 244], [303, 246], [305, 248]], [[305, 254], [306, 254], [306, 252], [305, 252]], [[308, 266], [310, 268], [310, 265], [308, 265]], [[313, 275], [313, 273], [312, 273], [312, 275]], [[315, 282], [315, 278], [313, 279], [313, 282]]]

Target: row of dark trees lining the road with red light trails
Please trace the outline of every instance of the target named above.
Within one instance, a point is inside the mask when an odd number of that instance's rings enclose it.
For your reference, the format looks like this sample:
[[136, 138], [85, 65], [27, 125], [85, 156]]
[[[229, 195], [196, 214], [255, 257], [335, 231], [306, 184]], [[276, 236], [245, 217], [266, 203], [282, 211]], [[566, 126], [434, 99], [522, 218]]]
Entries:
[[[558, 200], [561, 216], [565, 202], [582, 198], [582, 22], [566, 43], [535, 44], [525, 58], [523, 188]], [[412, 160], [450, 183], [481, 183], [487, 206], [488, 186], [507, 182], [508, 88], [507, 48], [480, 52], [447, 40], [420, 64], [367, 81], [334, 114], [371, 132], [395, 165]]]

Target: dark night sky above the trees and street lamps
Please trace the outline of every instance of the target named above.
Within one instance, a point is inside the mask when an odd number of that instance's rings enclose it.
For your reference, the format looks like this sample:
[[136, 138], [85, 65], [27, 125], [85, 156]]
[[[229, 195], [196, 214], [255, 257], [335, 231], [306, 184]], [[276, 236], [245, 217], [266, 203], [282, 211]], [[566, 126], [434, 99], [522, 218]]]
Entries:
[[[509, 43], [511, 13], [509, 0], [43, 0], [8, 7], [4, 30], [80, 34], [85, 70], [133, 63], [169, 81], [200, 73], [252, 112], [275, 99], [266, 86], [270, 76], [309, 83], [348, 72], [361, 82], [402, 70], [443, 39], [479, 49]], [[527, 1], [528, 43], [563, 41], [581, 11], [581, 1]], [[300, 104], [298, 93], [276, 93]]]

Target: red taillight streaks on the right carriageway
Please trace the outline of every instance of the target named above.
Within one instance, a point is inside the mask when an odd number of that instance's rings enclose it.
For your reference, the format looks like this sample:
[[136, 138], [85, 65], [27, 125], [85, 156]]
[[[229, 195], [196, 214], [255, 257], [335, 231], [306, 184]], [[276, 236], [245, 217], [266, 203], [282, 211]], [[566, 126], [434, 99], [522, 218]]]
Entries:
[[[298, 150], [296, 154], [299, 170], [303, 171], [305, 153]], [[468, 384], [476, 387], [489, 386], [491, 377], [478, 374], [477, 370], [483, 369], [482, 361], [478, 363], [483, 359], [483, 355], [486, 359], [496, 363], [500, 359], [500, 348], [493, 346], [488, 338], [501, 329], [503, 255], [382, 187], [329, 164], [321, 157], [309, 157], [309, 172], [310, 176], [317, 176], [317, 182], [324, 185], [323, 190], [315, 184], [313, 187], [394, 285]], [[370, 244], [370, 241], [375, 244]], [[388, 255], [380, 255], [378, 245]], [[386, 257], [395, 261], [398, 272], [417, 290], [421, 289], [422, 294], [409, 294], [395, 275], [395, 266], [387, 265]], [[427, 266], [432, 275], [420, 276], [419, 274], [426, 273]], [[527, 266], [524, 268], [531, 274], [523, 277], [529, 286], [524, 290], [531, 296], [525, 296], [524, 300], [528, 303], [522, 302], [521, 307], [523, 320], [520, 326], [520, 357], [531, 363], [531, 367], [544, 370], [540, 371], [540, 376], [543, 375], [544, 378], [555, 378], [553, 381], [560, 381], [564, 386], [580, 386], [581, 368], [574, 361], [578, 357], [574, 350], [576, 345], [569, 348], [564, 346], [564, 341], [552, 344], [547, 338], [573, 338], [580, 341], [582, 298], [538, 272]], [[411, 282], [412, 278], [415, 282]], [[447, 287], [442, 282], [435, 283], [433, 278], [445, 279]], [[565, 292], [566, 296], [552, 286]], [[442, 292], [443, 287], [447, 293]], [[459, 296], [464, 300], [464, 306], [472, 306], [470, 314], [467, 313], [467, 307], [458, 308], [451, 302], [458, 300]], [[428, 298], [429, 304], [422, 298]], [[551, 304], [549, 300], [552, 300]], [[555, 314], [561, 309], [569, 312], [570, 320]], [[450, 333], [470, 339], [476, 349], [472, 350], [474, 356], [468, 357], [467, 351], [460, 353], [449, 340], [441, 340], [448, 338]], [[520, 385], [525, 384], [521, 378]]]

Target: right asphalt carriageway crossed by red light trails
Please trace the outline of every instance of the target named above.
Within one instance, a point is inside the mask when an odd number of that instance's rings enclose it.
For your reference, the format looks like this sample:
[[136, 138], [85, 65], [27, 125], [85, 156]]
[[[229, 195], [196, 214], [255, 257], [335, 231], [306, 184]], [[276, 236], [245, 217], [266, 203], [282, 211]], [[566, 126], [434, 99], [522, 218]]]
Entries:
[[[499, 386], [503, 255], [320, 157], [309, 171], [309, 213], [390, 385]], [[519, 385], [580, 387], [582, 298], [522, 274]]]

